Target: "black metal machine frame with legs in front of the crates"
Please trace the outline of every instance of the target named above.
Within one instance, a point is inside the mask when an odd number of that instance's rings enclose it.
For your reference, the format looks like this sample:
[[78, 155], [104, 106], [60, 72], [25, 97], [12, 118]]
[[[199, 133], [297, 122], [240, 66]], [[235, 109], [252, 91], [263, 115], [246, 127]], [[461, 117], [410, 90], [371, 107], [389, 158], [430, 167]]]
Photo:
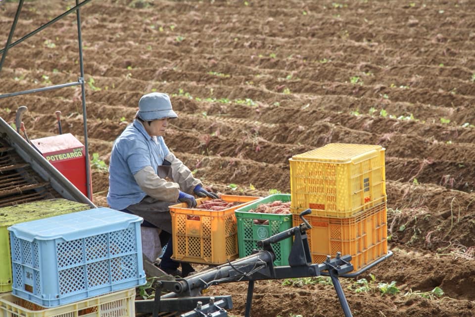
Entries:
[[[312, 264], [306, 234], [306, 231], [310, 230], [312, 226], [304, 218], [305, 215], [310, 213], [311, 210], [307, 209], [300, 214], [302, 220], [300, 225], [257, 241], [257, 246], [260, 249], [254, 250], [247, 257], [229, 261], [226, 264], [209, 268], [185, 278], [158, 281], [154, 299], [136, 301], [136, 312], [138, 314], [152, 314], [153, 317], [163, 316], [161, 315], [163, 312], [186, 312], [181, 314], [181, 317], [227, 317], [226, 309], [232, 308], [230, 296], [202, 297], [201, 294], [212, 285], [247, 282], [245, 317], [250, 317], [255, 281], [324, 275], [331, 277], [344, 316], [353, 316], [339, 282], [339, 277], [355, 277], [384, 261], [392, 253], [388, 252], [387, 256], [381, 257], [378, 261], [357, 272], [352, 272], [351, 256], [341, 256], [340, 253], [337, 253], [335, 258], [328, 256], [322, 264]], [[288, 237], [294, 238], [288, 256], [289, 265], [274, 266], [276, 254], [272, 245]]]

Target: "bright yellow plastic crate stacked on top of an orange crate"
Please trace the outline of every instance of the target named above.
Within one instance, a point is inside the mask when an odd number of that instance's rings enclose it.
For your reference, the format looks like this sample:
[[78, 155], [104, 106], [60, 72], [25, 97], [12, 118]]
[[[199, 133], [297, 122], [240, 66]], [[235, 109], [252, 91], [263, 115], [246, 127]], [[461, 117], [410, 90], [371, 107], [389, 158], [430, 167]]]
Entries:
[[290, 211], [348, 217], [386, 201], [385, 149], [332, 143], [294, 155], [290, 163]]

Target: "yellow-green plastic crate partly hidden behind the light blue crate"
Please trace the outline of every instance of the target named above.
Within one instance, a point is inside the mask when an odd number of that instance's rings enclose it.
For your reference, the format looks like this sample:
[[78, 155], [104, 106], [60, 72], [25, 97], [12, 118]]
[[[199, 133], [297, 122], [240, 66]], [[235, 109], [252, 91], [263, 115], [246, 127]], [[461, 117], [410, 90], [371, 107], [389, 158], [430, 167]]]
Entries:
[[0, 208], [0, 293], [12, 290], [10, 238], [7, 227], [87, 209], [91, 209], [91, 206], [62, 198]]

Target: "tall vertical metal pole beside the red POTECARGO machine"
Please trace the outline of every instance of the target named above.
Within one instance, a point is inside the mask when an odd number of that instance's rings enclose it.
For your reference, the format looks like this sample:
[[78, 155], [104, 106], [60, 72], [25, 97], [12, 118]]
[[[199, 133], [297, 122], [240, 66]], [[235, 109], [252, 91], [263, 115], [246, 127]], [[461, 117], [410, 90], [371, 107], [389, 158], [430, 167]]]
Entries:
[[[76, 7], [79, 6], [79, 0], [76, 0]], [[83, 63], [83, 40], [81, 36], [81, 14], [79, 12], [79, 7], [76, 10], [76, 18], [78, 21], [78, 44], [79, 44], [79, 67], [81, 72], [81, 78], [84, 79], [84, 63]], [[86, 88], [84, 86], [84, 80], [81, 81], [81, 100], [83, 103], [83, 125], [84, 125], [84, 147], [86, 151], [86, 187], [88, 192], [88, 198], [92, 199], [93, 193], [91, 189], [91, 164], [89, 161], [89, 142], [88, 142], [88, 120], [86, 113]]]

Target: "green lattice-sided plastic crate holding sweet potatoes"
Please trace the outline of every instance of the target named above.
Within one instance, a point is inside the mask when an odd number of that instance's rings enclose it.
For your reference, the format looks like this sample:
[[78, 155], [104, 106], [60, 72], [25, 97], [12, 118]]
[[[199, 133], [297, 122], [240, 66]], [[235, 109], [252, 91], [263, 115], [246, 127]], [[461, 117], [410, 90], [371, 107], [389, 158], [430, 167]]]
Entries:
[[[269, 238], [277, 233], [290, 229], [292, 227], [292, 214], [273, 214], [248, 212], [257, 208], [261, 204], [272, 203], [275, 201], [283, 203], [290, 201], [288, 194], [275, 194], [255, 201], [252, 204], [241, 207], [235, 211], [238, 221], [238, 250], [239, 258], [246, 257], [252, 253], [252, 250], [259, 249], [257, 241]], [[269, 220], [268, 225], [255, 224], [254, 219]], [[272, 249], [276, 254], [275, 266], [288, 265], [288, 256], [292, 248], [292, 237], [288, 237], [278, 243], [272, 244]]]

